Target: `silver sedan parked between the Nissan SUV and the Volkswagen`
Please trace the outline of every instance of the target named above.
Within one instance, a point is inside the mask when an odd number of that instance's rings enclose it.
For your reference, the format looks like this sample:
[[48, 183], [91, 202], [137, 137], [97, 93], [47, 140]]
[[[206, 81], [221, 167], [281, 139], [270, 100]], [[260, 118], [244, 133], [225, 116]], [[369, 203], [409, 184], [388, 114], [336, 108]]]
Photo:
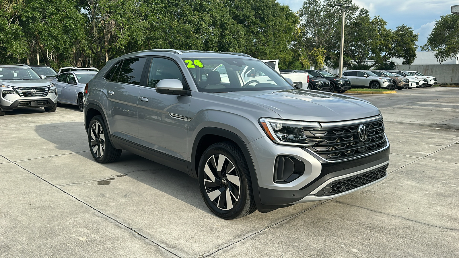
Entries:
[[84, 87], [97, 72], [76, 71], [59, 74], [52, 82], [56, 85], [59, 103], [77, 105], [84, 108]]

